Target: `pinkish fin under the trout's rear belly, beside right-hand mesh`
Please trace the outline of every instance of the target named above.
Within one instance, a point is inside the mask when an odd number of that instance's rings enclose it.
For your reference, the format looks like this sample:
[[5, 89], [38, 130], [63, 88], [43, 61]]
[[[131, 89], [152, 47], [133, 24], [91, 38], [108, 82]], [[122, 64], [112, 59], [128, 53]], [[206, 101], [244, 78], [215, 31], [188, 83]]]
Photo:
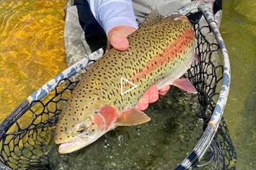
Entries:
[[192, 94], [197, 94], [196, 88], [193, 84], [188, 80], [188, 78], [177, 79], [173, 82], [173, 86], [176, 86], [182, 90], [190, 92]]

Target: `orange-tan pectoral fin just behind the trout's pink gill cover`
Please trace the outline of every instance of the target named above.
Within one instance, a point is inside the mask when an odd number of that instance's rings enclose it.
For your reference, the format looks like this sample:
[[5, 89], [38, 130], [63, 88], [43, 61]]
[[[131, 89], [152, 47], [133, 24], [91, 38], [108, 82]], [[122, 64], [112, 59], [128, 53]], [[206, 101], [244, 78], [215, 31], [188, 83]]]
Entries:
[[150, 117], [147, 114], [132, 108], [129, 111], [123, 112], [123, 114], [117, 118], [115, 126], [133, 126], [148, 121], [150, 121]]

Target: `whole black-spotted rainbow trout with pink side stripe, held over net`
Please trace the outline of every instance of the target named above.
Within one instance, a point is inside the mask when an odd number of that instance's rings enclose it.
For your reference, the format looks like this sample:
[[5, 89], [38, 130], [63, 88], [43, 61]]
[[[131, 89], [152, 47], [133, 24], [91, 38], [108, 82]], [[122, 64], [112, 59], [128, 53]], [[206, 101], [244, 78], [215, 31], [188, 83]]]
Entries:
[[[148, 122], [150, 117], [135, 105], [153, 84], [196, 92], [190, 82], [179, 79], [195, 55], [195, 32], [186, 16], [164, 18], [154, 11], [127, 39], [127, 50], [110, 49], [82, 75], [71, 94], [55, 130], [61, 154], [89, 145], [116, 126]], [[121, 95], [121, 78], [137, 88]]]

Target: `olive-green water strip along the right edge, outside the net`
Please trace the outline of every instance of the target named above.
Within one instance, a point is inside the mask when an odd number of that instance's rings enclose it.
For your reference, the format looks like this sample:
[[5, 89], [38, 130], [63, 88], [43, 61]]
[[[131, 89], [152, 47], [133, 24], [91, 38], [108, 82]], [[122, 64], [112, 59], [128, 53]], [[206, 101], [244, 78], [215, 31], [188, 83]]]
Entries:
[[224, 1], [222, 36], [230, 55], [231, 88], [225, 118], [237, 169], [256, 169], [256, 1]]

